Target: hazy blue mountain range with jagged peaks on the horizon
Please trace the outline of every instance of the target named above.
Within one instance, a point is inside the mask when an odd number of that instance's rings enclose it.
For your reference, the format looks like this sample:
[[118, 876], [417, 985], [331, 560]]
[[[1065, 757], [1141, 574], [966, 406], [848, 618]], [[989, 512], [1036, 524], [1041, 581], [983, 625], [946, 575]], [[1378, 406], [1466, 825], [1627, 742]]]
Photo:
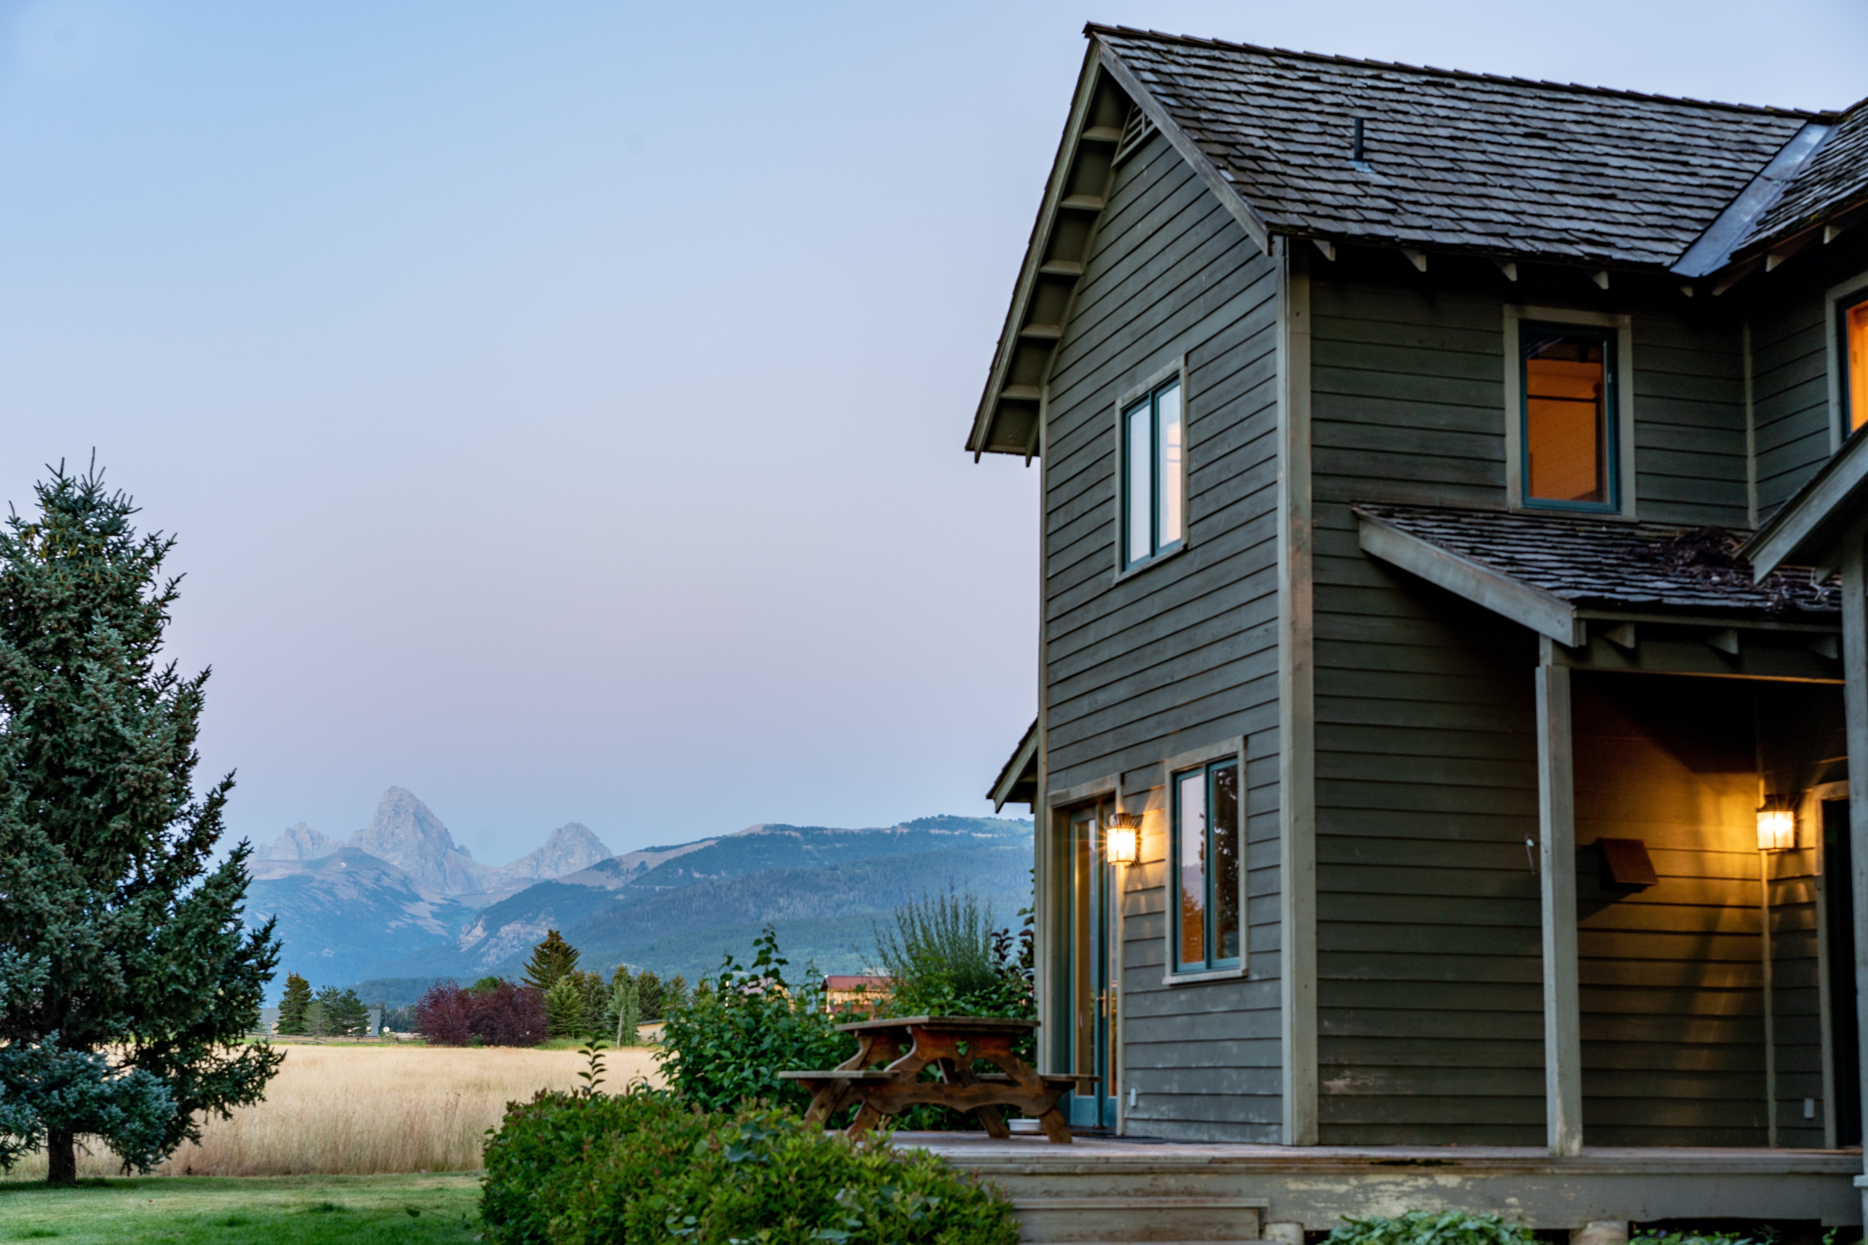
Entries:
[[[613, 855], [568, 823], [542, 847], [488, 866], [403, 788], [338, 842], [304, 823], [248, 864], [248, 924], [278, 916], [286, 972], [314, 986], [368, 980], [409, 993], [435, 978], [517, 974], [547, 930], [581, 967], [631, 963], [689, 980], [743, 952], [764, 924], [800, 967], [857, 971], [872, 924], [921, 894], [953, 888], [1016, 924], [1031, 892], [1031, 823], [921, 818], [893, 827], [753, 825], [732, 834]], [[374, 997], [374, 995], [372, 995]]]

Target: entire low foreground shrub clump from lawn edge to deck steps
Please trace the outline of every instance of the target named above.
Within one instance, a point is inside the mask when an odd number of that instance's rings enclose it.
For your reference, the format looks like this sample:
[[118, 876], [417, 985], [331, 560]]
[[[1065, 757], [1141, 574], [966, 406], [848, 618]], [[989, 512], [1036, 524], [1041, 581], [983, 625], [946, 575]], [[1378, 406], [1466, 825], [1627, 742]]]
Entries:
[[1011, 1204], [919, 1150], [770, 1107], [540, 1094], [488, 1142], [480, 1217], [502, 1245], [771, 1241], [1012, 1245]]

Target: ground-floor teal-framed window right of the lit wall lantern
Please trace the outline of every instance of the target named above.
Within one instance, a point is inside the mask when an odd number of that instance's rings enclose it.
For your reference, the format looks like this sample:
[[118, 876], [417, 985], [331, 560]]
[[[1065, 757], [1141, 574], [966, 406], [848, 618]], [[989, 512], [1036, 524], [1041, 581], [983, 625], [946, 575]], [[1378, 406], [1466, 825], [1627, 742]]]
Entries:
[[1238, 762], [1175, 775], [1175, 969], [1238, 963], [1244, 911], [1244, 801]]

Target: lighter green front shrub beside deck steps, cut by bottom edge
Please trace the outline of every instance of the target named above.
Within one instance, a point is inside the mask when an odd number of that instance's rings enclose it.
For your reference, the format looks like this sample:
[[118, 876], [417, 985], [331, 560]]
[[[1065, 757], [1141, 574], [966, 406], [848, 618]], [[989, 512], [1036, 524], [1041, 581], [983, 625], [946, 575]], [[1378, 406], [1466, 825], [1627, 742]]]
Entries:
[[[697, 1116], [691, 1116], [693, 1120]], [[611, 1142], [551, 1224], [555, 1245], [1014, 1245], [1011, 1202], [925, 1150], [850, 1140], [745, 1107], [695, 1139]]]

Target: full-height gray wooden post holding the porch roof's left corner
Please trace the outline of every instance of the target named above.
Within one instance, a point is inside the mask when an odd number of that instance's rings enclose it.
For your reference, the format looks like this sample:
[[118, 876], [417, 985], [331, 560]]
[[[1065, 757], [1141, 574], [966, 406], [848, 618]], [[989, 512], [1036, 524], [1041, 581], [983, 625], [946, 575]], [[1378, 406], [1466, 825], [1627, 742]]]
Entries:
[[1543, 885], [1543, 1099], [1550, 1154], [1582, 1154], [1582, 1036], [1577, 997], [1577, 797], [1569, 666], [1537, 666], [1537, 877]]

